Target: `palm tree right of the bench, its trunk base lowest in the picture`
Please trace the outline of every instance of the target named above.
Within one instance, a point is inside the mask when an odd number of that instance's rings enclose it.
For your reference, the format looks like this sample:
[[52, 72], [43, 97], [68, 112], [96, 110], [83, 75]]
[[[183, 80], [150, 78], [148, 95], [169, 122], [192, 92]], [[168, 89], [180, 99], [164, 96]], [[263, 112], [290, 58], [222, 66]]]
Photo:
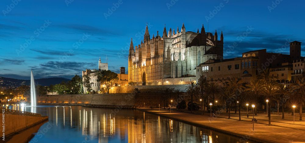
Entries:
[[[272, 98], [274, 96], [276, 96], [279, 90], [279, 86], [275, 81], [271, 81], [271, 82], [267, 82], [264, 86], [264, 88], [261, 90], [261, 94], [264, 95], [267, 98]], [[268, 104], [268, 117], [269, 117], [269, 123], [268, 125], [271, 126], [271, 104], [272, 104], [272, 100], [269, 101], [270, 104]]]

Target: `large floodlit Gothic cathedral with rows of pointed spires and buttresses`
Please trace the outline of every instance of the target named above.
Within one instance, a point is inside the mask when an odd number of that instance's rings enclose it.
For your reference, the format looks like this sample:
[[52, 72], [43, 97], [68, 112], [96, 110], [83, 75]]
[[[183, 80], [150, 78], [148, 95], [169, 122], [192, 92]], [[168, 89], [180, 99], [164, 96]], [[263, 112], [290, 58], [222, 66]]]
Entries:
[[206, 32], [203, 25], [199, 33], [164, 27], [163, 36], [157, 31], [150, 38], [146, 26], [141, 44], [134, 46], [132, 39], [128, 55], [129, 85], [188, 84], [196, 80], [196, 67], [209, 59], [223, 57], [223, 35], [218, 40]]

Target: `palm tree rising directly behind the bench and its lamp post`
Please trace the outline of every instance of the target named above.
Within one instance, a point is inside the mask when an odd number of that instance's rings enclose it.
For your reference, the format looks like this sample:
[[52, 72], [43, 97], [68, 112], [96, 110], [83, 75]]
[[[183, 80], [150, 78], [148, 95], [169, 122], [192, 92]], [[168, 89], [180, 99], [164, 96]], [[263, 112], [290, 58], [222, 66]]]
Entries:
[[[259, 98], [259, 92], [260, 90], [262, 90], [263, 88], [263, 83], [262, 83], [262, 79], [251, 79], [250, 80], [250, 84], [246, 84], [246, 89], [245, 91], [252, 91], [254, 93], [253, 95], [253, 99], [254, 99], [254, 104], [258, 103], [258, 98]], [[255, 115], [257, 116], [257, 106], [255, 106]]]

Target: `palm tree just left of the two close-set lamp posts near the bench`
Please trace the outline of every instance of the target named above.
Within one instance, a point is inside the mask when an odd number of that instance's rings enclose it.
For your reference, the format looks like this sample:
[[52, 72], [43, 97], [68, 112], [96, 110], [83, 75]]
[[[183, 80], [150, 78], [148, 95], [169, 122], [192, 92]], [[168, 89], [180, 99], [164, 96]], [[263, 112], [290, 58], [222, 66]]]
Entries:
[[[242, 89], [244, 88], [244, 86], [242, 86], [243, 83], [244, 82], [242, 80], [238, 80], [236, 77], [232, 77], [229, 80], [229, 82], [227, 83], [227, 85], [229, 86], [229, 89], [232, 90], [233, 93], [235, 94], [235, 100], [239, 100], [239, 102], [241, 102], [241, 100], [242, 100], [241, 93], [242, 93]], [[239, 112], [239, 121], [242, 120], [240, 118], [240, 105], [241, 104], [239, 104], [239, 110], [238, 110], [238, 112]], [[235, 111], [236, 111], [236, 108], [235, 108]]]

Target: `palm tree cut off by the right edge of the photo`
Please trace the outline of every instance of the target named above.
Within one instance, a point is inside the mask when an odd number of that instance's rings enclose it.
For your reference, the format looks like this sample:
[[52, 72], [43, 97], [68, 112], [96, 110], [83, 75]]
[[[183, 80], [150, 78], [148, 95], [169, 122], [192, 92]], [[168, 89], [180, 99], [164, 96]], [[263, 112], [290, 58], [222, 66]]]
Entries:
[[303, 108], [303, 101], [304, 101], [303, 95], [305, 94], [305, 79], [304, 79], [304, 77], [298, 78], [295, 83], [291, 84], [291, 86], [294, 90], [296, 90], [296, 92], [300, 96], [299, 97], [299, 101], [300, 101], [300, 121], [302, 121], [302, 108]]

